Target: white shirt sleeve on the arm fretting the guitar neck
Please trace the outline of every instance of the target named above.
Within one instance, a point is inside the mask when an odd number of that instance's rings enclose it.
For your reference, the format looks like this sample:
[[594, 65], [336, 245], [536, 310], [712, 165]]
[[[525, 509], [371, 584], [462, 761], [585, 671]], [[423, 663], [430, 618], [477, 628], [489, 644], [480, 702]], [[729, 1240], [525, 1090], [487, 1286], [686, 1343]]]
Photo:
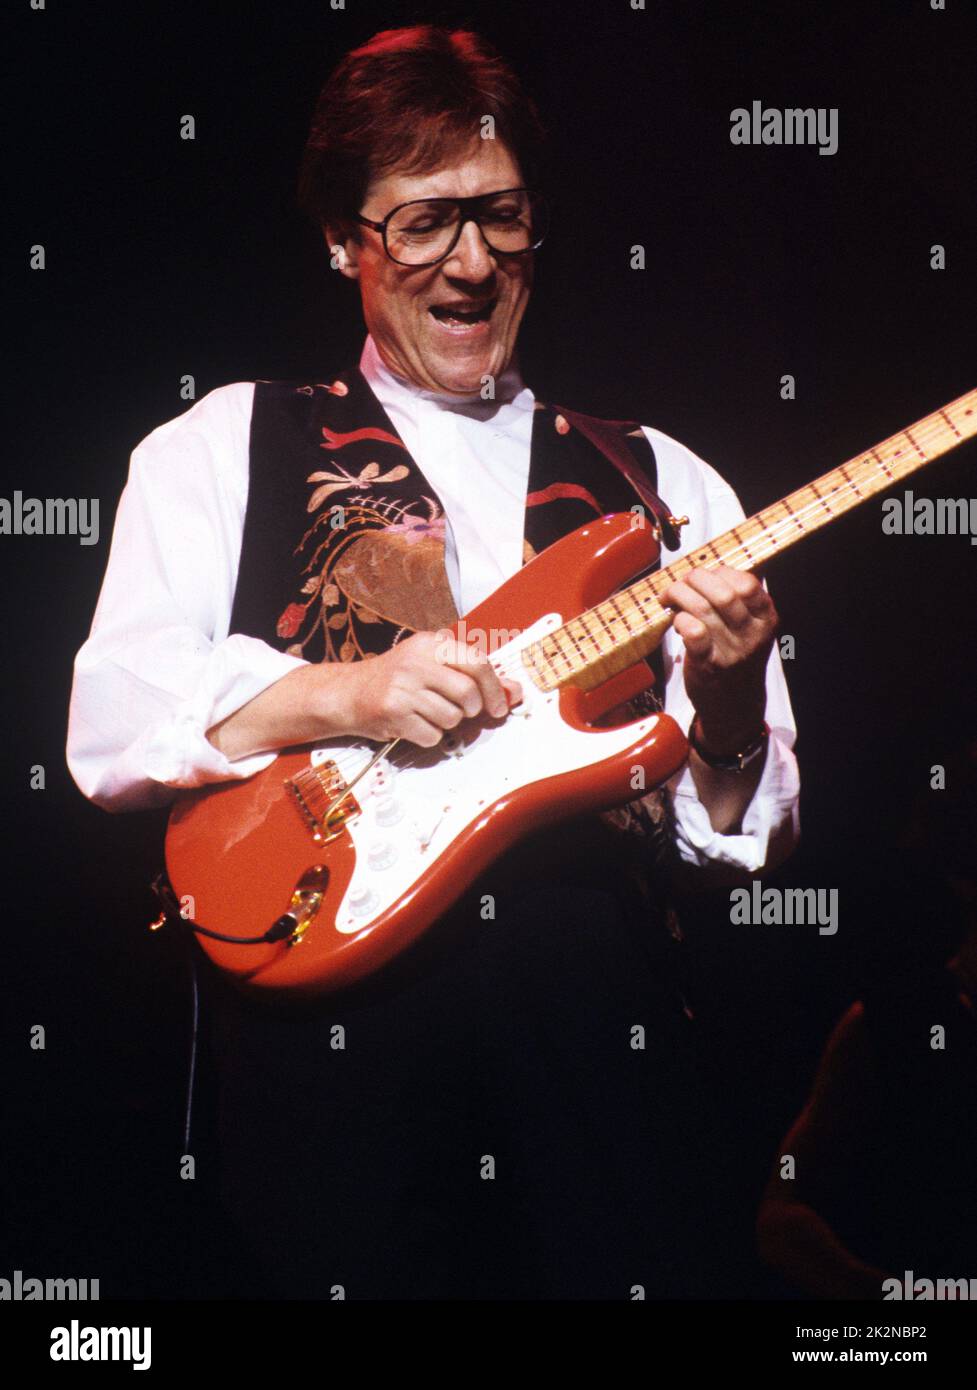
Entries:
[[[645, 434], [655, 449], [662, 498], [674, 516], [689, 518], [682, 528], [681, 548], [663, 555], [663, 564], [667, 566], [737, 525], [745, 513], [732, 488], [713, 467], [659, 430], [645, 428]], [[671, 630], [666, 634], [663, 657], [664, 708], [687, 731], [695, 709], [685, 691], [684, 644]], [[770, 741], [760, 781], [739, 830], [720, 834], [713, 828], [688, 764], [668, 783], [678, 853], [689, 865], [725, 865], [745, 873], [760, 873], [785, 859], [798, 842], [801, 776], [794, 755], [796, 726], [777, 644], [767, 662], [766, 684]]]

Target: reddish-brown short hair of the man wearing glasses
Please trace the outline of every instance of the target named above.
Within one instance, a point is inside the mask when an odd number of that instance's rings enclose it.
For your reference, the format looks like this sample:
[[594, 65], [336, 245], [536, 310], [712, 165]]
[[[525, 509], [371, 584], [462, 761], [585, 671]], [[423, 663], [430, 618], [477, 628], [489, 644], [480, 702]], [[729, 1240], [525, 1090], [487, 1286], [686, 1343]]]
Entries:
[[485, 115], [535, 186], [545, 131], [502, 56], [464, 29], [384, 29], [347, 53], [318, 95], [299, 170], [299, 206], [343, 239], [359, 235], [352, 217], [374, 178], [393, 168], [428, 174], [445, 157], [463, 154]]

